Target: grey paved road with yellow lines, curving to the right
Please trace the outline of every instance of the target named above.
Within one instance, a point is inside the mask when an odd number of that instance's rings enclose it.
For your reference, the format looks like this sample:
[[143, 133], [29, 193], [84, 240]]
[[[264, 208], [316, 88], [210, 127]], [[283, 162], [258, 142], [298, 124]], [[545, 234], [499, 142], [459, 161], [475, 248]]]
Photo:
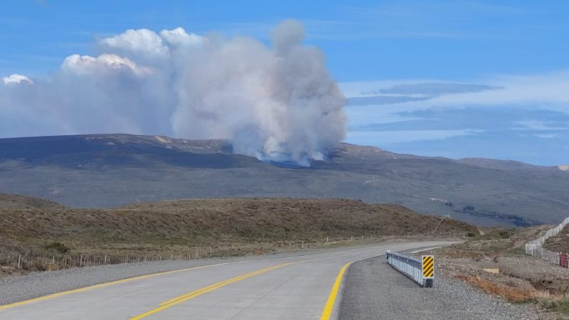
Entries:
[[382, 243], [191, 267], [7, 304], [0, 319], [334, 319], [346, 264], [447, 243]]

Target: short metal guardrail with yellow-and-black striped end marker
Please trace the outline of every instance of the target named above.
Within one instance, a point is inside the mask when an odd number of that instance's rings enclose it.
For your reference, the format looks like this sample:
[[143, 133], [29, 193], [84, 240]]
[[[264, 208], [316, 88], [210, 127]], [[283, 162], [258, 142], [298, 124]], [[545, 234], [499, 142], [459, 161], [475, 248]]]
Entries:
[[422, 256], [422, 261], [414, 257], [400, 255], [398, 253], [387, 250], [387, 263], [397, 270], [405, 274], [421, 287], [432, 287], [434, 268], [432, 255]]

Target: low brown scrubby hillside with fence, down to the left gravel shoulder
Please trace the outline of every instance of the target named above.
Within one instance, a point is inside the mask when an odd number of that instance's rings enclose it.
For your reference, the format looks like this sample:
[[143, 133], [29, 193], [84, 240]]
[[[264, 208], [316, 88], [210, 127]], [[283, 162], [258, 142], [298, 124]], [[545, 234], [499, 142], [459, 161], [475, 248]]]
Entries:
[[0, 209], [0, 266], [14, 267], [19, 256], [33, 270], [46, 267], [46, 257], [49, 265], [80, 256], [187, 256], [203, 248], [233, 255], [325, 238], [477, 232], [472, 225], [402, 206], [341, 199], [203, 199], [112, 209], [23, 206]]

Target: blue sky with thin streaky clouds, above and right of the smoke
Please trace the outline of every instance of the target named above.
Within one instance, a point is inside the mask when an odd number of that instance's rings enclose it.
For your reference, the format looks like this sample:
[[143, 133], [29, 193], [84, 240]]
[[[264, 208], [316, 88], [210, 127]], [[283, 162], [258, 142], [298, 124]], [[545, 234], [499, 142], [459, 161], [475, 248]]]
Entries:
[[348, 97], [347, 142], [569, 163], [568, 1], [5, 1], [0, 76], [41, 78], [129, 28], [246, 35], [285, 18]]

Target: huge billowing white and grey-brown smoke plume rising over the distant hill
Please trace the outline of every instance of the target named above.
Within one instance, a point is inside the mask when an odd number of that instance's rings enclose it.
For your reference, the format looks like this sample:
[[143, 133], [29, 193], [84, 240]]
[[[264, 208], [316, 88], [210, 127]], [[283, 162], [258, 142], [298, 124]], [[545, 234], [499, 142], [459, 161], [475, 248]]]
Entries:
[[[308, 166], [344, 139], [344, 97], [296, 21], [248, 37], [127, 30], [42, 81], [0, 85], [0, 135], [128, 132], [230, 139], [239, 154]], [[27, 85], [23, 85], [23, 83]]]

